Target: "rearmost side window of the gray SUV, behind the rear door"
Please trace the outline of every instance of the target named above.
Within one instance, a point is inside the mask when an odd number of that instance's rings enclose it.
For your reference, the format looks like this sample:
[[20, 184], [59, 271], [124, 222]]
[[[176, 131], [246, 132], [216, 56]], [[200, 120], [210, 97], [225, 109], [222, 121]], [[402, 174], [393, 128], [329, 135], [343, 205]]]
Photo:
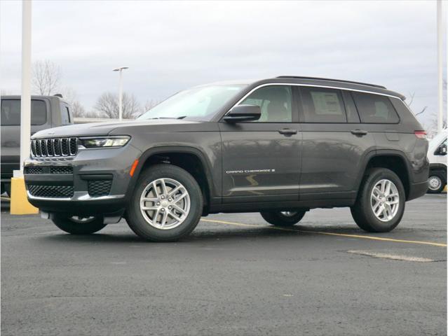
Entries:
[[361, 123], [395, 124], [399, 118], [391, 101], [386, 96], [353, 92]]

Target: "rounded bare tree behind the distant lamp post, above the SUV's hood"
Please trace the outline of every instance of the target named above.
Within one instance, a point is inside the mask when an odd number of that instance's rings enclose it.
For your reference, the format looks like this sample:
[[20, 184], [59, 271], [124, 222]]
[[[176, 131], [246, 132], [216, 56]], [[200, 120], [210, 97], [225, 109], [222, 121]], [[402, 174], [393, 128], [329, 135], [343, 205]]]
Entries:
[[[104, 118], [118, 118], [118, 94], [104, 92], [98, 98], [94, 109]], [[123, 93], [123, 118], [133, 119], [140, 111], [140, 104], [134, 94]]]

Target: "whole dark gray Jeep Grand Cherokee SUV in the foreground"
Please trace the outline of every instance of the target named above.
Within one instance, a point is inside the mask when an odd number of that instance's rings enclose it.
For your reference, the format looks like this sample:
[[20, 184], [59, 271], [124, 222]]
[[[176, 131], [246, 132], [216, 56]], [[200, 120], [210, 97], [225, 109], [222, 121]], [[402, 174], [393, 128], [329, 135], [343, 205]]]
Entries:
[[28, 199], [72, 234], [124, 217], [143, 239], [173, 241], [208, 214], [289, 226], [332, 207], [387, 232], [428, 189], [428, 141], [404, 99], [295, 76], [193, 87], [137, 120], [34, 134]]

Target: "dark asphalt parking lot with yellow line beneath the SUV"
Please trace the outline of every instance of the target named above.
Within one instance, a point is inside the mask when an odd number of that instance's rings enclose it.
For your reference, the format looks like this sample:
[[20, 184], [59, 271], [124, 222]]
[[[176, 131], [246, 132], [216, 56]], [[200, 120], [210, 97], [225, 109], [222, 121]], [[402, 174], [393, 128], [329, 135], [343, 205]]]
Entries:
[[177, 243], [124, 221], [67, 235], [1, 213], [2, 335], [446, 335], [447, 195], [407, 203], [387, 234], [348, 209], [278, 229], [203, 218]]

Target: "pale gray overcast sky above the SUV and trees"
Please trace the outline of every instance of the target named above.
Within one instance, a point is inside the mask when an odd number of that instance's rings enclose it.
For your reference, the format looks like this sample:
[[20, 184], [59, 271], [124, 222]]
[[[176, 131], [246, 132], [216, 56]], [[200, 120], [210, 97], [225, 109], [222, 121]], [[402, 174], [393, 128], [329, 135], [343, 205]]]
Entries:
[[[21, 1], [0, 1], [1, 89], [20, 92]], [[33, 1], [32, 59], [86, 109], [116, 91], [163, 99], [217, 80], [318, 76], [385, 85], [437, 111], [435, 1]]]

